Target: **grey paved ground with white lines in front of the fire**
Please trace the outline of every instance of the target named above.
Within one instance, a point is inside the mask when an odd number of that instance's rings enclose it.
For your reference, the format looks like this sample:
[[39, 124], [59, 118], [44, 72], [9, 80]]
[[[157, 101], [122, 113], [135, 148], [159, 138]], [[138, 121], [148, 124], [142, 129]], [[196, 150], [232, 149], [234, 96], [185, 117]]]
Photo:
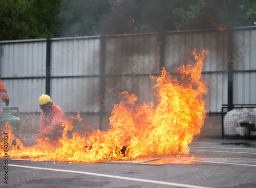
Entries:
[[140, 157], [129, 161], [66, 163], [0, 160], [0, 187], [256, 187], [256, 140], [195, 140], [188, 157]]

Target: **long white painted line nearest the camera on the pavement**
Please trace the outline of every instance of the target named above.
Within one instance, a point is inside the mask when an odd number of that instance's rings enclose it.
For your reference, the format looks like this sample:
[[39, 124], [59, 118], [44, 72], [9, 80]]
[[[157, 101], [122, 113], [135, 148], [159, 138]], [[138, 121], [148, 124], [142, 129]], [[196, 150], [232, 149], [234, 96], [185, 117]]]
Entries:
[[189, 188], [212, 188], [212, 187], [206, 187], [206, 186], [197, 186], [197, 185], [189, 185], [189, 184], [182, 184], [182, 183], [172, 183], [172, 182], [166, 182], [166, 181], [156, 181], [156, 180], [150, 180], [150, 179], [140, 179], [140, 178], [131, 178], [131, 177], [123, 177], [123, 176], [114, 176], [114, 175], [108, 175], [108, 174], [98, 174], [98, 173], [74, 171], [74, 170], [50, 169], [50, 168], [31, 167], [31, 166], [12, 165], [12, 164], [8, 164], [8, 166], [28, 168], [28, 169], [37, 169], [37, 170], [48, 170], [48, 171], [56, 171], [56, 172], [86, 174], [86, 175], [91, 175], [91, 176], [101, 176], [101, 177], [107, 177], [107, 178], [124, 179], [124, 180], [130, 180], [130, 181], [140, 181], [140, 182], [146, 182], [146, 183], [156, 183], [156, 184], [163, 184], [163, 185], [189, 187]]

